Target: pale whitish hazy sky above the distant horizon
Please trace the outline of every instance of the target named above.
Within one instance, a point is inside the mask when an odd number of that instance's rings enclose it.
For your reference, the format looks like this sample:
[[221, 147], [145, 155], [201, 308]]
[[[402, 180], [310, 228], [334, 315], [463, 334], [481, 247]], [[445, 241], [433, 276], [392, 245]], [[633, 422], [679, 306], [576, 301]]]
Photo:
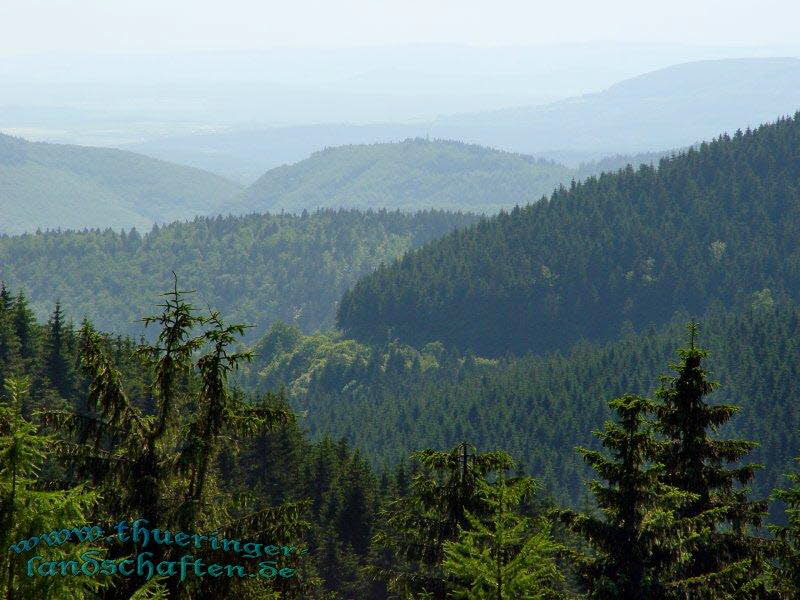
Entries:
[[0, 0], [0, 56], [798, 39], [797, 0]]

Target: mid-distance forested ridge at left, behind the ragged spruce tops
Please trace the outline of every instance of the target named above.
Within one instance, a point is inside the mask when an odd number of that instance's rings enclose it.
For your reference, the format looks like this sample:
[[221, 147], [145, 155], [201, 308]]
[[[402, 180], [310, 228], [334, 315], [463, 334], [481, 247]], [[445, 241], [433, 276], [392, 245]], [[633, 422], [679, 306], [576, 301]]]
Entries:
[[0, 236], [0, 281], [24, 289], [44, 318], [61, 299], [76, 320], [138, 334], [172, 281], [195, 301], [263, 332], [274, 320], [304, 330], [332, 325], [336, 301], [361, 275], [471, 215], [323, 211], [311, 215], [196, 218], [140, 235], [111, 230]]

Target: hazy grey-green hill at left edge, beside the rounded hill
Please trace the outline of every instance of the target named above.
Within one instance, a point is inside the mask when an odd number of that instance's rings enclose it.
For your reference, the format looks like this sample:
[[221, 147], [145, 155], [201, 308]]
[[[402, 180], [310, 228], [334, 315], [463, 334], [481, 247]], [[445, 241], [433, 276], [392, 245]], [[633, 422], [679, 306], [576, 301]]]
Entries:
[[0, 134], [0, 233], [149, 228], [213, 212], [239, 189], [217, 175], [132, 152]]

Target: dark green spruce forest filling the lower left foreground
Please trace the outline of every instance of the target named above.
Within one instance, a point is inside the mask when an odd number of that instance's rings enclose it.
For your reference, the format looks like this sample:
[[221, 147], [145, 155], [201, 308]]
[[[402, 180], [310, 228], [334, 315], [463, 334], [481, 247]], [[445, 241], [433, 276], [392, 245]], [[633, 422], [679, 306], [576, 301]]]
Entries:
[[[10, 548], [40, 532], [137, 517], [153, 526], [304, 544], [313, 557], [287, 559], [299, 575], [274, 596], [271, 585], [234, 582], [226, 589], [198, 578], [182, 597], [335, 598], [343, 596], [326, 589], [379, 589], [358, 569], [394, 476], [379, 478], [343, 439], [309, 441], [281, 395], [229, 388], [227, 368], [245, 360], [230, 349], [241, 331], [193, 309], [180, 293], [163, 299], [155, 315], [159, 339], [140, 345], [99, 333], [88, 321], [77, 326], [60, 305], [37, 323], [24, 295], [0, 290], [3, 597], [176, 594], [174, 578], [31, 579], [28, 557]], [[180, 343], [168, 343], [170, 336]], [[39, 554], [65, 560], [83, 551], [65, 548], [48, 545]], [[112, 547], [105, 557], [125, 552]]]

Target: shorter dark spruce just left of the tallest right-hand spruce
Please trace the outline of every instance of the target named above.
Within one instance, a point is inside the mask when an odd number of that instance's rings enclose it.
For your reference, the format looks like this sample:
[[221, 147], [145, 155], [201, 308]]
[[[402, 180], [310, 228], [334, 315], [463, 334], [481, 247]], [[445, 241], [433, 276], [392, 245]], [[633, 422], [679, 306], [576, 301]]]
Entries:
[[[560, 511], [561, 520], [594, 549], [578, 557], [577, 571], [590, 598], [645, 600], [668, 597], [691, 523], [677, 511], [692, 497], [660, 481], [651, 400], [627, 395], [609, 402], [617, 414], [595, 436], [610, 452], [578, 448], [603, 481], [589, 489], [602, 516]], [[605, 483], [604, 483], [605, 482]]]

